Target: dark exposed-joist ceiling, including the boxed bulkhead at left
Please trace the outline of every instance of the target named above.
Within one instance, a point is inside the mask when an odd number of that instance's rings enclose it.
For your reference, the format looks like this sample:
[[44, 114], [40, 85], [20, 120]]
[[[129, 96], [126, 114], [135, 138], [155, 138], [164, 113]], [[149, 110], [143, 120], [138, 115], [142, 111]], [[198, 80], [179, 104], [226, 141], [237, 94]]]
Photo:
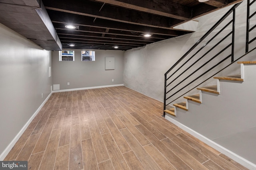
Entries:
[[[119, 50], [128, 50], [191, 33], [188, 30], [194, 31], [196, 26], [191, 29], [188, 21], [241, 0], [203, 3], [198, 0], [0, 1], [1, 23], [45, 49], [58, 49], [62, 45], [65, 49], [114, 49], [118, 46]], [[46, 10], [40, 11], [41, 6]], [[38, 17], [48, 15], [48, 20]], [[45, 27], [49, 23], [51, 33]], [[182, 23], [186, 25], [180, 25]], [[75, 29], [66, 28], [68, 24]], [[150, 37], [144, 37], [146, 34]], [[57, 46], [53, 40], [59, 42]], [[70, 44], [75, 46], [70, 47]]]

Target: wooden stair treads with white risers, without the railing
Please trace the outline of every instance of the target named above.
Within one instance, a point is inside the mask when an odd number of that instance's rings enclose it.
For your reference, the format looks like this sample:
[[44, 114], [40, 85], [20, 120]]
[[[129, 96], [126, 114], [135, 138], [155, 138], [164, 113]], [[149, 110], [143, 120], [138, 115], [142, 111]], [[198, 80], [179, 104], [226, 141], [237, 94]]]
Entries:
[[[197, 90], [200, 90], [198, 94], [192, 94], [190, 96], [184, 96], [184, 99], [186, 99], [186, 101], [181, 102], [181, 103], [176, 103], [173, 104], [173, 108], [170, 109], [166, 109], [164, 110], [165, 113], [167, 113], [168, 115], [177, 116], [177, 112], [179, 111], [179, 109], [183, 109], [185, 111], [188, 111], [189, 107], [188, 107], [188, 100], [192, 101], [192, 102], [196, 102], [199, 104], [202, 104], [202, 102], [211, 102], [211, 101], [202, 101], [202, 92], [207, 92], [207, 93], [213, 93], [213, 94], [220, 94], [221, 90], [220, 90], [220, 81], [229, 81], [229, 82], [243, 82], [244, 81], [244, 67], [246, 66], [252, 66], [256, 64], [256, 61], [240, 61], [237, 62], [238, 64], [241, 64], [241, 74], [236, 74], [236, 75], [231, 75], [231, 76], [216, 76], [213, 77], [214, 79], [217, 79], [217, 84], [213, 85], [213, 86], [206, 86], [206, 87], [199, 87], [196, 88]], [[226, 86], [228, 86], [228, 84], [225, 84]], [[227, 87], [226, 87], [227, 88]], [[236, 89], [239, 90], [239, 89]], [[207, 94], [205, 93], [205, 94]], [[216, 106], [218, 107], [218, 106]]]

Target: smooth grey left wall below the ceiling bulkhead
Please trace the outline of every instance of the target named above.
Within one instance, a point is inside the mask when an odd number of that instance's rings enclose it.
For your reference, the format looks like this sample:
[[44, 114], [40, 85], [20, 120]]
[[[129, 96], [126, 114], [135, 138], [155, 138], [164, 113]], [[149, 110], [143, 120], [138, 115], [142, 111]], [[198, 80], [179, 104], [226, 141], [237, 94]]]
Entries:
[[0, 60], [2, 153], [50, 94], [51, 52], [0, 23]]

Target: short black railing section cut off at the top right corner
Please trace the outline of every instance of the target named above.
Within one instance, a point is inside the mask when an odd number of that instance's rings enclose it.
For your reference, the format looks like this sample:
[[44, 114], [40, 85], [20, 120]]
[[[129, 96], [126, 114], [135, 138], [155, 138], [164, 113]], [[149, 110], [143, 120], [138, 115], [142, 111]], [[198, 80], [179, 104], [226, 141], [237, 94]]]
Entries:
[[250, 25], [250, 20], [253, 17], [256, 17], [255, 16], [256, 12], [250, 14], [252, 12], [251, 7], [253, 5], [256, 5], [256, 3], [254, 2], [256, 2], [256, 0], [252, 0], [252, 1], [247, 0], [246, 47], [245, 47], [246, 53], [248, 53], [249, 51], [249, 45], [256, 40], [256, 37], [253, 37], [253, 35], [250, 34], [256, 28], [256, 25]]

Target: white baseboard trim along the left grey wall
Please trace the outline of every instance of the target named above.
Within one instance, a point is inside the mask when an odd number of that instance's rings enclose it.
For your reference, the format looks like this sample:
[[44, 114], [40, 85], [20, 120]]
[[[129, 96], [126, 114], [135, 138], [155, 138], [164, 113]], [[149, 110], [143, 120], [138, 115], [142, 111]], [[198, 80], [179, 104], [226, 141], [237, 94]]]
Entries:
[[27, 129], [28, 125], [32, 122], [34, 117], [36, 117], [37, 113], [42, 109], [46, 101], [50, 98], [52, 93], [48, 95], [48, 97], [44, 100], [44, 102], [38, 107], [38, 109], [35, 111], [35, 113], [30, 117], [30, 119], [27, 121], [27, 123], [22, 127], [22, 129], [19, 131], [19, 133], [14, 137], [14, 139], [11, 141], [11, 143], [4, 149], [4, 151], [0, 154], [0, 161], [4, 160], [4, 158], [7, 156], [7, 154], [10, 152], [12, 147], [16, 144], [18, 139], [20, 139], [21, 135], [24, 133], [24, 131]]

